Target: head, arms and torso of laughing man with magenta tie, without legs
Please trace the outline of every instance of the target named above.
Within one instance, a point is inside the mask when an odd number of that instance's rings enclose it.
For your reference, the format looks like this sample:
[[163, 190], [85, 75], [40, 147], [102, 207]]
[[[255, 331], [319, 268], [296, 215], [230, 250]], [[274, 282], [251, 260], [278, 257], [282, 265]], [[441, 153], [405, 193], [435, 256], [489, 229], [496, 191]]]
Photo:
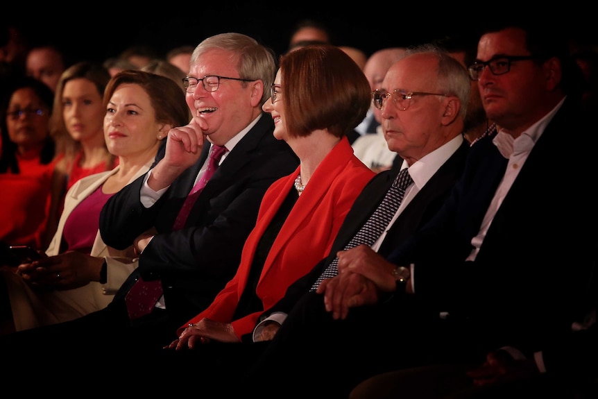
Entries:
[[166, 308], [178, 325], [232, 278], [264, 192], [297, 167], [262, 114], [274, 68], [271, 50], [246, 35], [200, 43], [183, 78], [193, 119], [169, 132], [151, 171], [103, 210], [102, 235], [117, 246], [135, 241], [137, 271], [144, 280], [162, 280], [164, 295], [152, 313]]

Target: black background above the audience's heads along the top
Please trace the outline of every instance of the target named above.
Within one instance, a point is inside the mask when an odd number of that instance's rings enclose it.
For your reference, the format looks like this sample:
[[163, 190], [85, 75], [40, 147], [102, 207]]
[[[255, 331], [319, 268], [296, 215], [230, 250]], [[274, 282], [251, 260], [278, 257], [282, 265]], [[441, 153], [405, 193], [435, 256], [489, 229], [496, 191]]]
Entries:
[[354, 46], [369, 55], [386, 46], [410, 46], [445, 35], [477, 35], [489, 22], [512, 15], [547, 21], [576, 42], [594, 46], [598, 43], [598, 19], [590, 4], [210, 0], [33, 6], [27, 2], [12, 3], [12, 11], [2, 12], [0, 18], [19, 26], [31, 44], [55, 42], [76, 60], [103, 61], [135, 44], [151, 45], [164, 56], [175, 46], [196, 46], [207, 36], [230, 31], [253, 36], [280, 54], [287, 50], [294, 24], [305, 18], [328, 26], [334, 34], [334, 44]]

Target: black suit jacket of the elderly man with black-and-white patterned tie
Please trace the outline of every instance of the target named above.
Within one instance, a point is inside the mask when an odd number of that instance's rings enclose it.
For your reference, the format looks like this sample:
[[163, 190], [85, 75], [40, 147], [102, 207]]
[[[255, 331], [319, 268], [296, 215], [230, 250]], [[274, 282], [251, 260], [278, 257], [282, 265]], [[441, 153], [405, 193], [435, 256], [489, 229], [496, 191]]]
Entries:
[[[441, 207], [447, 196], [450, 194], [456, 180], [461, 176], [465, 167], [465, 158], [469, 151], [469, 144], [463, 140], [463, 144], [453, 155], [442, 165], [434, 176], [411, 200], [409, 205], [401, 212], [398, 219], [388, 231], [378, 253], [386, 256], [404, 239], [407, 239], [413, 232], [418, 230], [427, 221], [432, 219], [436, 211]], [[318, 262], [314, 269], [293, 283], [287, 289], [284, 297], [271, 309], [262, 314], [261, 319], [273, 312], [289, 313], [298, 299], [309, 291], [311, 285], [317, 280], [324, 269], [334, 260], [336, 252], [341, 251], [346, 244], [357, 234], [361, 226], [366, 223], [373, 214], [379, 203], [386, 195], [393, 181], [397, 177], [399, 169], [391, 169], [378, 173], [359, 194], [347, 214], [339, 234], [336, 235], [330, 255]]]

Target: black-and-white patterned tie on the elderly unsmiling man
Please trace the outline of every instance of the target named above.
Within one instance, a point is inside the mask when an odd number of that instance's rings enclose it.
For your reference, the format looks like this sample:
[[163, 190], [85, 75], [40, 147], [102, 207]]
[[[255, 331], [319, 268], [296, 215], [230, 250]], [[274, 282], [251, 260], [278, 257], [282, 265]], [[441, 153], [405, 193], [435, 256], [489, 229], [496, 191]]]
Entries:
[[[360, 244], [372, 246], [376, 240], [379, 239], [380, 235], [382, 235], [384, 229], [388, 227], [388, 223], [391, 223], [391, 220], [401, 205], [405, 190], [412, 182], [413, 180], [411, 180], [411, 176], [409, 176], [408, 168], [400, 171], [397, 178], [395, 178], [393, 185], [388, 189], [388, 192], [386, 192], [386, 196], [382, 200], [382, 203], [380, 203], [372, 216], [370, 216], [370, 219], [366, 221], [364, 226], [362, 226], [357, 234], [353, 236], [344, 249], [347, 250]], [[318, 277], [318, 280], [314, 282], [314, 285], [311, 286], [310, 291], [316, 291], [323, 280], [332, 278], [338, 274], [339, 271], [336, 268], [338, 263], [339, 258], [335, 257], [320, 277]]]

